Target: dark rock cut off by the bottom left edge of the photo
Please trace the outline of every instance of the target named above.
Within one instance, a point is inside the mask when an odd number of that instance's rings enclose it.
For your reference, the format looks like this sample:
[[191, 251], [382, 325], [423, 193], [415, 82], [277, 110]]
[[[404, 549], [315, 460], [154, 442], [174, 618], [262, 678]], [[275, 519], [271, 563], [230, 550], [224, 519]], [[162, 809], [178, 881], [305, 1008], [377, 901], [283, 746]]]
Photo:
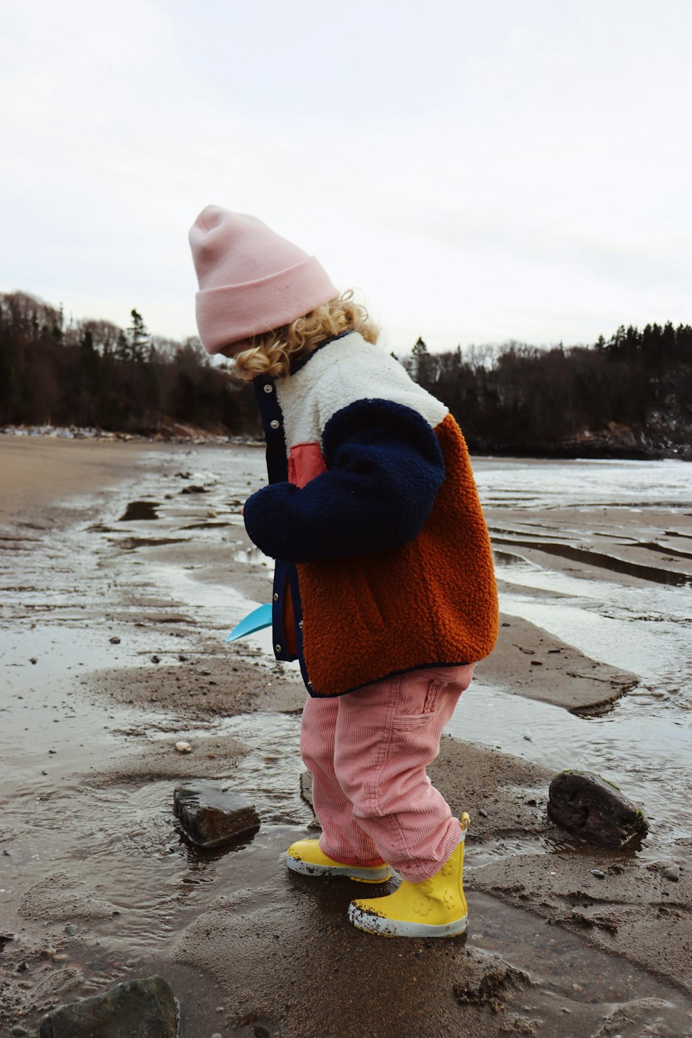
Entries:
[[61, 1006], [46, 1016], [40, 1038], [176, 1038], [177, 1003], [163, 977], [122, 984]]

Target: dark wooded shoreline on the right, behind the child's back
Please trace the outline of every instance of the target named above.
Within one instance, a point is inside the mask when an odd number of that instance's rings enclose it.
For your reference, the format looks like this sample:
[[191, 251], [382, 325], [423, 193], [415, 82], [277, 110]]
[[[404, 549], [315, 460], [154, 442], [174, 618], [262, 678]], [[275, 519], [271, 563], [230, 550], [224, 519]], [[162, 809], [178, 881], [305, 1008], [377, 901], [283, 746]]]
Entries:
[[692, 327], [620, 327], [592, 347], [520, 343], [405, 365], [480, 453], [692, 460]]

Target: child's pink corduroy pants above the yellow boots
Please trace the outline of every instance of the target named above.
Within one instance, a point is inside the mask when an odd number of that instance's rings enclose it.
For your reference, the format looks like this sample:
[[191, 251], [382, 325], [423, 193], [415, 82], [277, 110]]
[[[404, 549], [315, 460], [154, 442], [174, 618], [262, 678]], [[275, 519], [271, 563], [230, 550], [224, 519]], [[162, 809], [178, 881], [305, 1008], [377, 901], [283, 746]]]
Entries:
[[308, 699], [301, 753], [325, 854], [344, 865], [387, 862], [414, 883], [447, 861], [461, 826], [425, 768], [472, 676], [473, 664], [436, 666]]

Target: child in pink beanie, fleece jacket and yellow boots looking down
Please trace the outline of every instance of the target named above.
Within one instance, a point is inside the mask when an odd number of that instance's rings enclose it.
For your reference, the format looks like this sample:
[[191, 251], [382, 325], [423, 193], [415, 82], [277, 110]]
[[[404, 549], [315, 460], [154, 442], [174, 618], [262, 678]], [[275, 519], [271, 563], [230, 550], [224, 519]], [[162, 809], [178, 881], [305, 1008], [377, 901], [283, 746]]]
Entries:
[[425, 767], [497, 636], [488, 530], [461, 431], [382, 347], [351, 293], [254, 217], [207, 206], [190, 231], [205, 349], [252, 381], [269, 486], [245, 503], [276, 559], [277, 659], [300, 661], [317, 840], [289, 869], [378, 883], [362, 930], [466, 929], [464, 830]]

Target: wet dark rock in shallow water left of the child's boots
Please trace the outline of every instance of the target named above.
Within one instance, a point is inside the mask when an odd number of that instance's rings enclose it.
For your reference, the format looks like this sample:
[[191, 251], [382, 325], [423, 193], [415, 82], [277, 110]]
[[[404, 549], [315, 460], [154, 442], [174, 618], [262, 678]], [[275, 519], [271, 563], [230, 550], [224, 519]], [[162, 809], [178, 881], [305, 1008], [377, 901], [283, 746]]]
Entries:
[[173, 811], [197, 847], [222, 847], [259, 828], [259, 816], [245, 795], [226, 793], [217, 783], [201, 778], [175, 787]]

